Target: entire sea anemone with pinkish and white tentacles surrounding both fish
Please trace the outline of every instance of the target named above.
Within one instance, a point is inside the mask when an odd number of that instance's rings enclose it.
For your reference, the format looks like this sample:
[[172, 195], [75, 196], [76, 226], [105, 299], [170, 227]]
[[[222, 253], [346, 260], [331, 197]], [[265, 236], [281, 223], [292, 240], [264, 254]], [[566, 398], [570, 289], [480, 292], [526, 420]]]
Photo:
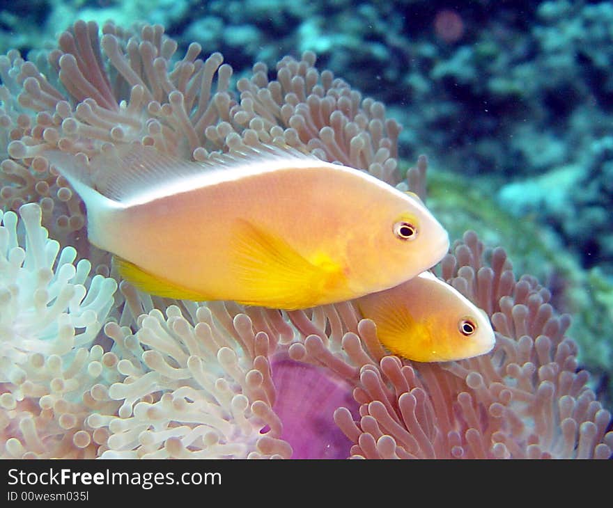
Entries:
[[235, 93], [220, 54], [201, 60], [194, 43], [176, 59], [161, 26], [102, 34], [76, 22], [53, 51], [0, 57], [0, 200], [13, 210], [0, 228], [2, 457], [610, 457], [610, 413], [568, 316], [474, 232], [437, 273], [487, 312], [497, 345], [460, 362], [389, 355], [351, 302], [286, 312], [125, 281], [115, 293], [49, 148], [90, 157], [136, 141], [204, 161], [281, 141], [422, 199], [426, 159], [400, 182], [400, 126], [310, 52], [272, 81], [256, 63]]

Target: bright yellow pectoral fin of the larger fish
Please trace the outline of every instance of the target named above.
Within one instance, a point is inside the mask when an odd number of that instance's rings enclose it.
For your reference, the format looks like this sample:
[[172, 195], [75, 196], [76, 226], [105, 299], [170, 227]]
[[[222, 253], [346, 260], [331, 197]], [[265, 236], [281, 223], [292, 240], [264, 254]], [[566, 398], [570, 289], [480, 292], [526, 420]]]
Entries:
[[345, 280], [339, 264], [328, 256], [318, 254], [308, 260], [284, 239], [249, 221], [237, 221], [233, 238], [233, 273], [249, 295], [240, 301], [245, 305], [312, 307]]

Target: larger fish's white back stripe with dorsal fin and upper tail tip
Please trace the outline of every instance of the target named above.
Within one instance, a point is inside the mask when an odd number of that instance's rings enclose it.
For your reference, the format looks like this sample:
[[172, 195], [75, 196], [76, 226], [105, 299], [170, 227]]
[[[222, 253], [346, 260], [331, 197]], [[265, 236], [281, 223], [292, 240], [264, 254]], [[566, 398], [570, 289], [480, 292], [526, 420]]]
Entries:
[[212, 154], [209, 161], [194, 162], [134, 143], [95, 155], [89, 163], [89, 168], [80, 167], [84, 164], [73, 156], [59, 157], [60, 155], [67, 154], [58, 153], [50, 158], [57, 164], [59, 172], [68, 178], [84, 198], [86, 204], [93, 198], [86, 196], [91, 191], [85, 192], [84, 187], [91, 189], [91, 186], [95, 186], [95, 191], [107, 198], [106, 207], [125, 209], [247, 176], [279, 170], [331, 168], [349, 172], [388, 192], [398, 193], [398, 196], [410, 200], [413, 207], [428, 213], [423, 203], [418, 203], [364, 170], [322, 161], [313, 154], [305, 154], [288, 146], [245, 146], [228, 154]]

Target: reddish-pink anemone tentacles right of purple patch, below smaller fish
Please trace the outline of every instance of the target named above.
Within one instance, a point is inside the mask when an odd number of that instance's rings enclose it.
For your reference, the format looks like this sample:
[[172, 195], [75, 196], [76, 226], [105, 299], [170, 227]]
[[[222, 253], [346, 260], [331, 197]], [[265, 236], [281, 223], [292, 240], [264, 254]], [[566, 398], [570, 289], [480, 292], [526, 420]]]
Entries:
[[387, 356], [364, 365], [354, 392], [355, 422], [336, 422], [366, 458], [607, 459], [611, 415], [577, 369], [570, 320], [534, 278], [515, 280], [501, 248], [487, 252], [474, 232], [441, 263], [443, 277], [487, 310], [492, 353], [451, 363]]

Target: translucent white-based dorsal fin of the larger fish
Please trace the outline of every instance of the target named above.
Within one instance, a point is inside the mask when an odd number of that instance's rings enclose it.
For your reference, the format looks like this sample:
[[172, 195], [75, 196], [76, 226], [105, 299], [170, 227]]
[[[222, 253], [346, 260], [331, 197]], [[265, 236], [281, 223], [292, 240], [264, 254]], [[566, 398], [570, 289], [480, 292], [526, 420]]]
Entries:
[[240, 146], [208, 161], [186, 161], [140, 143], [111, 147], [90, 161], [95, 189], [111, 200], [129, 205], [233, 180], [258, 170], [327, 164], [288, 146]]

